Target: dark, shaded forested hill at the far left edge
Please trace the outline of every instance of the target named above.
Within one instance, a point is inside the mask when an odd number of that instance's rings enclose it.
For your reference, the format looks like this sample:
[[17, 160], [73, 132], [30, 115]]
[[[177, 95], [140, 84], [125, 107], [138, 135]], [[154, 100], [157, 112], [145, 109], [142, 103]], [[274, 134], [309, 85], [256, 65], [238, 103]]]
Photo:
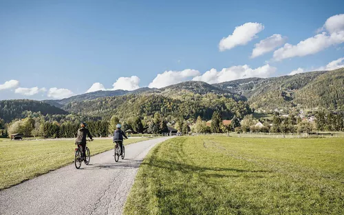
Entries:
[[0, 101], [0, 119], [10, 122], [25, 117], [25, 112], [41, 112], [41, 114], [68, 114], [65, 110], [42, 101], [28, 99]]

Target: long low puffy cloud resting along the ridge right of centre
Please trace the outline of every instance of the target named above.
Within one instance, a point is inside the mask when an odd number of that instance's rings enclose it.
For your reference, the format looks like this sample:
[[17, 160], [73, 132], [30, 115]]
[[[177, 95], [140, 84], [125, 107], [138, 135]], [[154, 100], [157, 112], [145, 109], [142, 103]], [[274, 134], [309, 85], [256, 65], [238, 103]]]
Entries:
[[235, 79], [244, 79], [250, 77], [266, 78], [276, 72], [277, 68], [269, 64], [259, 68], [252, 69], [248, 65], [236, 65], [230, 68], [223, 68], [221, 71], [211, 69], [201, 76], [196, 76], [193, 81], [204, 81], [206, 83], [221, 83], [224, 81], [232, 81]]

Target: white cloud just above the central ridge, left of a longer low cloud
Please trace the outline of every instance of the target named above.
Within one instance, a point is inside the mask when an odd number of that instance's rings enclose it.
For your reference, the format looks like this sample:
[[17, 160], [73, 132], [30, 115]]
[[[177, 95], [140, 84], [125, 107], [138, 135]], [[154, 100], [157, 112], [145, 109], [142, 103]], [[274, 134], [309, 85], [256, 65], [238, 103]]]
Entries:
[[149, 83], [149, 88], [164, 88], [168, 85], [187, 81], [192, 77], [200, 75], [198, 70], [183, 70], [183, 71], [165, 71], [162, 74], [158, 74], [155, 79]]

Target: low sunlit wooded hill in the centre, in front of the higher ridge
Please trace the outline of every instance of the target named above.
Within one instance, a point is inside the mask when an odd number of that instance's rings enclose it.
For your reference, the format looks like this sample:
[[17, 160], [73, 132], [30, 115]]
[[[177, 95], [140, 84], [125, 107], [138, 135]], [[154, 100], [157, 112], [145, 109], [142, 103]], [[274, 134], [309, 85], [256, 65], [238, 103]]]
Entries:
[[188, 94], [184, 99], [172, 99], [162, 94], [128, 94], [125, 96], [103, 97], [90, 101], [71, 102], [64, 109], [76, 114], [102, 116], [109, 119], [116, 114], [127, 119], [131, 116], [153, 116], [160, 112], [169, 119], [184, 117], [184, 119], [202, 116], [211, 119], [215, 110], [222, 112], [225, 119], [231, 119], [234, 114], [247, 114], [250, 109], [247, 103], [217, 94]]

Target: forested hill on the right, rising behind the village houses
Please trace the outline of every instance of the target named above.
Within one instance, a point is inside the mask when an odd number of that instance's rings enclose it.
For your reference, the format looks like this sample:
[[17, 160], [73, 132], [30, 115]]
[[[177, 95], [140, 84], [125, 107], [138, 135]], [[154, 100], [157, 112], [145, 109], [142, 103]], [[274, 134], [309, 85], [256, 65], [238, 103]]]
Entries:
[[251, 107], [274, 110], [289, 107], [331, 107], [343, 110], [344, 68], [305, 72], [269, 79], [241, 79], [215, 84], [248, 99]]

